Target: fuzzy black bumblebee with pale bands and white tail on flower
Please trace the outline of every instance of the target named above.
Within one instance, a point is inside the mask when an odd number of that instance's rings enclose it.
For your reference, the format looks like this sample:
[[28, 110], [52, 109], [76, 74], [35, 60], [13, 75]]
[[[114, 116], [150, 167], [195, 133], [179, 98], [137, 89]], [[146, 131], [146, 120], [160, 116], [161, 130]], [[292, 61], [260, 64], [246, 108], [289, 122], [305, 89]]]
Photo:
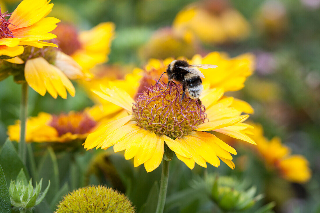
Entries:
[[191, 99], [197, 99], [199, 105], [201, 105], [201, 100], [199, 99], [199, 96], [203, 91], [201, 77], [204, 78], [204, 75], [200, 72], [199, 68], [209, 69], [217, 68], [217, 66], [211, 64], [191, 65], [185, 60], [172, 61], [168, 65], [166, 72], [164, 72], [167, 73], [169, 79], [167, 89], [169, 87], [170, 82], [175, 81], [181, 83], [183, 93], [180, 101], [184, 99], [185, 94], [187, 93]]

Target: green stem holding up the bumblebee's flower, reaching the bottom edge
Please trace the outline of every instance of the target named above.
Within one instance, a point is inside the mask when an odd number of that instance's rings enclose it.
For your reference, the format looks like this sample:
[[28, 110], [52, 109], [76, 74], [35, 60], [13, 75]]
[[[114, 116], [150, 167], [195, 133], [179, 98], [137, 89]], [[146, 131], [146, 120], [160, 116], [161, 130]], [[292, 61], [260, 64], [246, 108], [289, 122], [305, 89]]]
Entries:
[[163, 213], [165, 197], [167, 195], [169, 177], [169, 161], [162, 160], [161, 184], [156, 213]]

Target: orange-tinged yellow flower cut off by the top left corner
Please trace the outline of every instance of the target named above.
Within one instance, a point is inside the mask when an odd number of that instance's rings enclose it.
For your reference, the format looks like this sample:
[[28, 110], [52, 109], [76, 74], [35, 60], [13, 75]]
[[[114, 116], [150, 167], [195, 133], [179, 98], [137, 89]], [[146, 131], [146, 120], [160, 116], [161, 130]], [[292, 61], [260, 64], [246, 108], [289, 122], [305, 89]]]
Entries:
[[49, 32], [57, 27], [56, 23], [60, 20], [54, 17], [45, 18], [53, 7], [53, 4], [49, 2], [47, 0], [23, 0], [9, 19], [6, 19], [8, 14], [0, 11], [0, 56], [10, 58], [22, 54], [24, 51], [22, 45], [37, 48], [58, 47], [56, 44], [40, 41], [57, 37]]

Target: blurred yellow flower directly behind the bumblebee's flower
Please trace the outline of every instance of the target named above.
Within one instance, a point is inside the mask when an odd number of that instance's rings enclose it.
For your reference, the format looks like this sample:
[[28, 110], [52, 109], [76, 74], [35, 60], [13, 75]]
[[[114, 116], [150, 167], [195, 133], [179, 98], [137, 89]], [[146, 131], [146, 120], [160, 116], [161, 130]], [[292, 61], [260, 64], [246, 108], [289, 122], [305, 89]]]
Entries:
[[[184, 58], [179, 58], [184, 59]], [[164, 60], [150, 59], [146, 66], [141, 68], [135, 68], [132, 73], [127, 74], [123, 80], [112, 80], [108, 77], [101, 78], [96, 77], [90, 81], [84, 82], [85, 88], [91, 90], [99, 90], [100, 84], [106, 86], [116, 86], [126, 91], [134, 99], [137, 94], [146, 90], [147, 87], [156, 83], [160, 76], [166, 72], [168, 65], [173, 61], [173, 58], [167, 58]], [[243, 54], [235, 58], [229, 58], [225, 53], [211, 52], [205, 57], [195, 55], [191, 60], [188, 60], [190, 64], [214, 64], [218, 65], [214, 70], [202, 69], [206, 78], [203, 79], [203, 83], [210, 88], [220, 88], [223, 91], [237, 91], [244, 87], [244, 81], [254, 71], [254, 57], [252, 54]], [[214, 74], [214, 75], [213, 75]], [[163, 75], [160, 82], [167, 83], [167, 75]], [[103, 98], [94, 95], [92, 99], [96, 104], [102, 104], [103, 107], [97, 108], [97, 114], [101, 117], [112, 118], [112, 115], [117, 115], [120, 112], [124, 113], [122, 108], [104, 100]], [[246, 102], [234, 99], [232, 102], [233, 107], [239, 108], [244, 113], [252, 114], [253, 108]], [[100, 113], [98, 113], [100, 110]]]

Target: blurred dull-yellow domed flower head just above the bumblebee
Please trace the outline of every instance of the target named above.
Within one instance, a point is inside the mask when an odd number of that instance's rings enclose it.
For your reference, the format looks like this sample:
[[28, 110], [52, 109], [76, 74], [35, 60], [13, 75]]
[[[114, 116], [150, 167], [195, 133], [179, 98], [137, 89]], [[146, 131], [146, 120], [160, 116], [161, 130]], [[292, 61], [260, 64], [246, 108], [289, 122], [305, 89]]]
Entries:
[[162, 28], [154, 32], [150, 40], [140, 49], [143, 59], [165, 59], [167, 57], [187, 58], [199, 52], [196, 39], [191, 33], [178, 34], [172, 28]]

